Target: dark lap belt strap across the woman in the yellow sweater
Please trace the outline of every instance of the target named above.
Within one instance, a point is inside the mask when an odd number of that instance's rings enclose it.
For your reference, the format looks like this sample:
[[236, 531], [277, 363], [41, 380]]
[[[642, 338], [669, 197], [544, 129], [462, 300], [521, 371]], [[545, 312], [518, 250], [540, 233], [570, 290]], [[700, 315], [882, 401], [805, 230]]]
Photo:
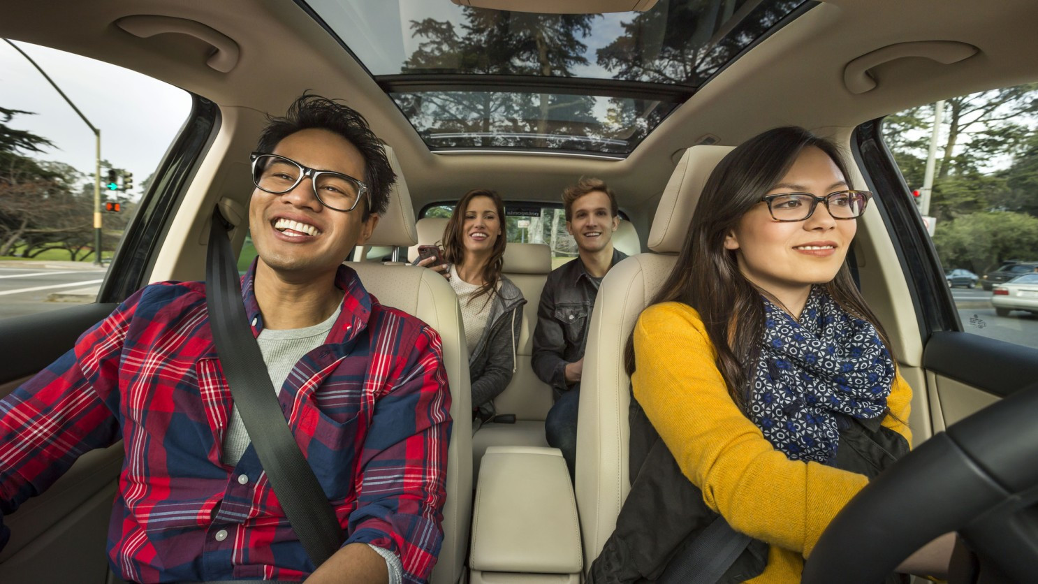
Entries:
[[660, 584], [716, 584], [753, 538], [717, 516], [680, 556], [675, 556]]

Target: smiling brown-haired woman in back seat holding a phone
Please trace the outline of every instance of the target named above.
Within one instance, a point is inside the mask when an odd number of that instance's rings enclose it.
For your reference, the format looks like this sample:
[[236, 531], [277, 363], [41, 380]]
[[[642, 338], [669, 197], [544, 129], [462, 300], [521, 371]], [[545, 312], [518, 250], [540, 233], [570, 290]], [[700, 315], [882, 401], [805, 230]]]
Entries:
[[465, 193], [443, 229], [444, 263], [418, 266], [441, 273], [458, 293], [472, 384], [473, 432], [494, 417], [497, 397], [515, 372], [522, 326], [522, 291], [501, 274], [504, 203], [494, 191]]

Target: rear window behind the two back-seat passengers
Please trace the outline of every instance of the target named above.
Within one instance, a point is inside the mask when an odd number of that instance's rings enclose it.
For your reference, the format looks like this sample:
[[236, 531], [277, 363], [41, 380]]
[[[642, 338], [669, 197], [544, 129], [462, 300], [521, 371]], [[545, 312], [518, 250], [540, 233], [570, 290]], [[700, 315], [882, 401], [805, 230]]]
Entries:
[[[438, 204], [426, 207], [421, 218], [449, 218], [454, 206]], [[577, 256], [577, 244], [566, 230], [566, 212], [562, 204], [507, 202], [504, 215], [509, 243], [547, 244], [551, 248], [552, 269]]]

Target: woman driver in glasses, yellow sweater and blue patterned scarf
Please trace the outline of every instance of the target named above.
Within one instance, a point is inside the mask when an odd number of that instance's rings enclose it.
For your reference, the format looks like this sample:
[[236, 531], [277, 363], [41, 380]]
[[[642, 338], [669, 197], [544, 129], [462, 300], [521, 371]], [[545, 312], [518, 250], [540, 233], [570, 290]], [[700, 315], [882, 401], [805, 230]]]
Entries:
[[[832, 143], [798, 128], [750, 139], [710, 175], [628, 342], [634, 412], [662, 442], [641, 452], [655, 467], [632, 468], [595, 582], [623, 581], [610, 573], [625, 563], [638, 564], [632, 579], [666, 567], [681, 581], [671, 554], [717, 513], [730, 541], [749, 537], [714, 581], [799, 582], [830, 520], [908, 451], [911, 389], [845, 262], [871, 196], [852, 190]], [[946, 568], [938, 541], [902, 567]]]

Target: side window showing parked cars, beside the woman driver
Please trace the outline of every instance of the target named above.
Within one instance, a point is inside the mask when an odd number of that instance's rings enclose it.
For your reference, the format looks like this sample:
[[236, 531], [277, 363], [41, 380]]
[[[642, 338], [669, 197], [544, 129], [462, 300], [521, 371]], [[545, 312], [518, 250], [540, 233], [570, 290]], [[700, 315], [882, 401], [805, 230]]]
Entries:
[[1038, 347], [1038, 84], [883, 120], [964, 331]]

